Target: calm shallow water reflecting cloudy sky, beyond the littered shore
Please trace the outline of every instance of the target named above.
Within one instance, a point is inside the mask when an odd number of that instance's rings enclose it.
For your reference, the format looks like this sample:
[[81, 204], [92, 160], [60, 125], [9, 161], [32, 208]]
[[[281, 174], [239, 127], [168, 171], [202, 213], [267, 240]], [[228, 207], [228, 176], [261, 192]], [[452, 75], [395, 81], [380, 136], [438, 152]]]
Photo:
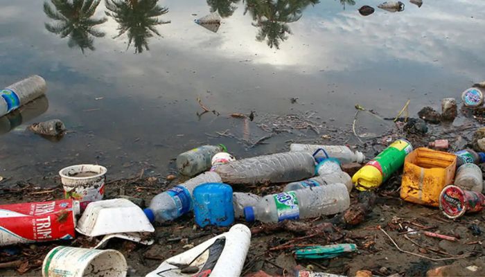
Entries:
[[[177, 153], [201, 143], [226, 143], [239, 157], [274, 152], [301, 137], [276, 136], [245, 150], [235, 139], [213, 135], [230, 129], [238, 136], [250, 133], [252, 141], [264, 136], [256, 123], [229, 116], [251, 111], [255, 122], [265, 114], [316, 111], [316, 121], [349, 129], [357, 103], [395, 116], [410, 99], [413, 115], [423, 105], [439, 109], [441, 98], [459, 98], [482, 81], [485, 3], [424, 0], [418, 8], [405, 1], [405, 10], [396, 13], [378, 9], [378, 3], [160, 0], [157, 5], [168, 11], [158, 19], [170, 21], [150, 26], [160, 36], [148, 26], [133, 27], [147, 22], [143, 12], [121, 19], [127, 32], [118, 36], [121, 25], [105, 14], [102, 1], [87, 16], [100, 24], [86, 27], [83, 21], [74, 26], [86, 28], [61, 37], [62, 27], [83, 15], [80, 8], [62, 26], [47, 16], [43, 1], [1, 0], [0, 84], [42, 75], [48, 101], [0, 118], [0, 175], [57, 175], [75, 163], [103, 164], [111, 177], [141, 168], [165, 172]], [[376, 12], [362, 17], [362, 5]], [[216, 6], [224, 16], [217, 33], [194, 23]], [[267, 18], [274, 24], [264, 33]], [[280, 30], [285, 34], [272, 38]], [[220, 115], [198, 116], [197, 98]], [[61, 141], [24, 132], [26, 125], [52, 118], [71, 131]], [[379, 125], [372, 117], [362, 120]]]

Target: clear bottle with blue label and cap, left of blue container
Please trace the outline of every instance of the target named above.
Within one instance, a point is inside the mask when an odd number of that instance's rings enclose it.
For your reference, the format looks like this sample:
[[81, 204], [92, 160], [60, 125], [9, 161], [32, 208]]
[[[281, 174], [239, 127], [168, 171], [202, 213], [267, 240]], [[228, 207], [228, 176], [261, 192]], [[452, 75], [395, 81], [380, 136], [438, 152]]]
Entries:
[[188, 213], [193, 208], [193, 189], [200, 184], [220, 183], [221, 179], [215, 172], [205, 172], [197, 177], [189, 179], [164, 193], [153, 197], [149, 208], [143, 210], [150, 222], [164, 222], [175, 220], [177, 217]]

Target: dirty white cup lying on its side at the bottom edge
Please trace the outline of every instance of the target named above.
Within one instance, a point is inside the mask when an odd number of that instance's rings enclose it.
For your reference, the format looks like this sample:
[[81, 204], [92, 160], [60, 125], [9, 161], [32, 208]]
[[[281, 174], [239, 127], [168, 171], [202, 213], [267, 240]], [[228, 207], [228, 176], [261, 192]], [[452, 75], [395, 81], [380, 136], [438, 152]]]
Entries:
[[116, 250], [55, 247], [42, 263], [43, 277], [125, 277], [127, 264]]

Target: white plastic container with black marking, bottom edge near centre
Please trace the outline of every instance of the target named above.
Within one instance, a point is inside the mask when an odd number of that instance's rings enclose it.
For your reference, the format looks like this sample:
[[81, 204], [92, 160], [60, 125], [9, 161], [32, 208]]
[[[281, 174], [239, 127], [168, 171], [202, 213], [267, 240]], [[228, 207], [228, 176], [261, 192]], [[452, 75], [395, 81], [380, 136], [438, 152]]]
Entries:
[[[251, 244], [251, 231], [244, 224], [236, 224], [193, 249], [168, 258], [145, 277], [240, 276]], [[184, 265], [177, 267], [177, 265]], [[197, 267], [197, 273], [182, 273], [184, 267]]]

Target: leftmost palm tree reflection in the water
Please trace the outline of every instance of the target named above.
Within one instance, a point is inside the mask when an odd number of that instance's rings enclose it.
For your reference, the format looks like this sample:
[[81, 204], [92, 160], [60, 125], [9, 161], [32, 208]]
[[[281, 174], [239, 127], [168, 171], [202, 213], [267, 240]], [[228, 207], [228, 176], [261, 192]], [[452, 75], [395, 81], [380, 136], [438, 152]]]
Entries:
[[44, 2], [44, 13], [48, 18], [55, 20], [54, 23], [46, 23], [46, 29], [60, 35], [69, 37], [67, 45], [70, 48], [78, 46], [84, 53], [85, 48], [94, 50], [94, 37], [104, 37], [95, 26], [103, 24], [107, 18], [91, 18], [101, 0], [51, 0], [53, 6]]

